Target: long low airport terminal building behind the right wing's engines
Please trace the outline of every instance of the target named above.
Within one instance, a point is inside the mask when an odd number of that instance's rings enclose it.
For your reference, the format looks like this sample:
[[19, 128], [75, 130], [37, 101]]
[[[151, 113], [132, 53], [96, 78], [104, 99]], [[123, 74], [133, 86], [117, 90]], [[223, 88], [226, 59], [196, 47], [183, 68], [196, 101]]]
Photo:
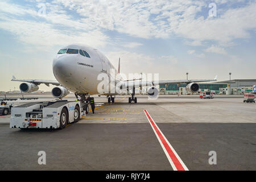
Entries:
[[[216, 94], [234, 94], [240, 95], [253, 92], [253, 85], [256, 79], [237, 79], [217, 82], [199, 83], [200, 91], [214, 91]], [[185, 90], [186, 84], [168, 84], [159, 85], [160, 94], [188, 94]]]

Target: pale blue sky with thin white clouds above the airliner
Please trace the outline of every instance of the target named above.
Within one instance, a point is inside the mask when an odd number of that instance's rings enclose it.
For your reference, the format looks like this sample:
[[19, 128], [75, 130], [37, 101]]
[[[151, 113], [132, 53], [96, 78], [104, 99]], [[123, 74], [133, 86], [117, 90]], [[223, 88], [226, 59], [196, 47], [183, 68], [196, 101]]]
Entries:
[[[55, 80], [63, 46], [99, 49], [122, 73], [160, 80], [255, 78], [256, 1], [0, 1], [0, 90]], [[40, 85], [40, 90], [51, 90]]]

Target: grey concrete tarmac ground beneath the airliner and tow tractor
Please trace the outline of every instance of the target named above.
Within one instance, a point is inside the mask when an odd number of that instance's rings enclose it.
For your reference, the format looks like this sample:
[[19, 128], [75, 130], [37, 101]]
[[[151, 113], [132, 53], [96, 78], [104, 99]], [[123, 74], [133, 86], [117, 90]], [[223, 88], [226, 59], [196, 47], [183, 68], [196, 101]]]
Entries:
[[[256, 169], [256, 105], [241, 97], [94, 98], [96, 114], [63, 130], [10, 129], [10, 115], [0, 115], [0, 170], [172, 170], [144, 110], [189, 170]], [[38, 164], [39, 151], [46, 165]], [[210, 151], [217, 164], [209, 164]]]

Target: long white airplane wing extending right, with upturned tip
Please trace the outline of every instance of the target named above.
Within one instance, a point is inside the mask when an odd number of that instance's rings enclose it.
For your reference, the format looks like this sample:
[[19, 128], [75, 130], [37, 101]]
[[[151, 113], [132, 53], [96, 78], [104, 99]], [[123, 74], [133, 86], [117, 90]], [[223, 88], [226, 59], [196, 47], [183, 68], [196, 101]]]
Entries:
[[160, 84], [190, 84], [192, 82], [208, 82], [217, 81], [217, 76], [209, 80], [159, 80], [159, 81], [127, 81], [125, 82], [125, 87], [127, 88], [137, 88], [141, 86], [156, 86]]

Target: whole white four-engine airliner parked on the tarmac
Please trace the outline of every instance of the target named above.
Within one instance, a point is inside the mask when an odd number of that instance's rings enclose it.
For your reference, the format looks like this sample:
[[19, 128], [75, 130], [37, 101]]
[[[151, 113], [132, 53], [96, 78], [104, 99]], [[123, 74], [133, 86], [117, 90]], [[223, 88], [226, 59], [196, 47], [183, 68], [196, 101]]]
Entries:
[[[89, 46], [81, 44], [72, 44], [60, 49], [55, 59], [53, 59], [53, 74], [56, 80], [23, 80], [16, 79], [13, 76], [12, 81], [22, 81], [19, 88], [22, 92], [35, 92], [39, 89], [38, 85], [49, 84], [56, 85], [52, 89], [53, 97], [60, 98], [69, 94], [69, 90], [75, 93], [76, 97], [80, 100], [85, 100], [87, 94], [105, 95], [108, 97], [108, 102], [114, 102], [117, 92], [110, 93], [98, 92], [98, 84], [101, 80], [98, 80], [100, 73], [105, 73], [108, 77], [111, 76], [110, 69], [115, 70], [115, 75], [120, 71], [120, 60], [118, 71], [113, 67], [108, 58], [98, 51]], [[114, 76], [115, 77], [115, 76]], [[109, 80], [111, 80], [109, 78]], [[199, 85], [196, 82], [216, 81], [217, 76], [210, 80], [167, 80], [167, 81], [142, 81], [142, 80], [120, 80], [117, 78], [112, 79], [115, 85], [119, 84], [121, 90], [132, 90], [131, 97], [129, 97], [129, 103], [137, 103], [137, 97], [135, 96], [135, 88], [142, 86], [150, 86], [148, 94], [150, 96], [158, 95], [158, 89], [155, 88], [159, 84], [187, 84], [187, 90], [190, 92], [198, 92]]]

